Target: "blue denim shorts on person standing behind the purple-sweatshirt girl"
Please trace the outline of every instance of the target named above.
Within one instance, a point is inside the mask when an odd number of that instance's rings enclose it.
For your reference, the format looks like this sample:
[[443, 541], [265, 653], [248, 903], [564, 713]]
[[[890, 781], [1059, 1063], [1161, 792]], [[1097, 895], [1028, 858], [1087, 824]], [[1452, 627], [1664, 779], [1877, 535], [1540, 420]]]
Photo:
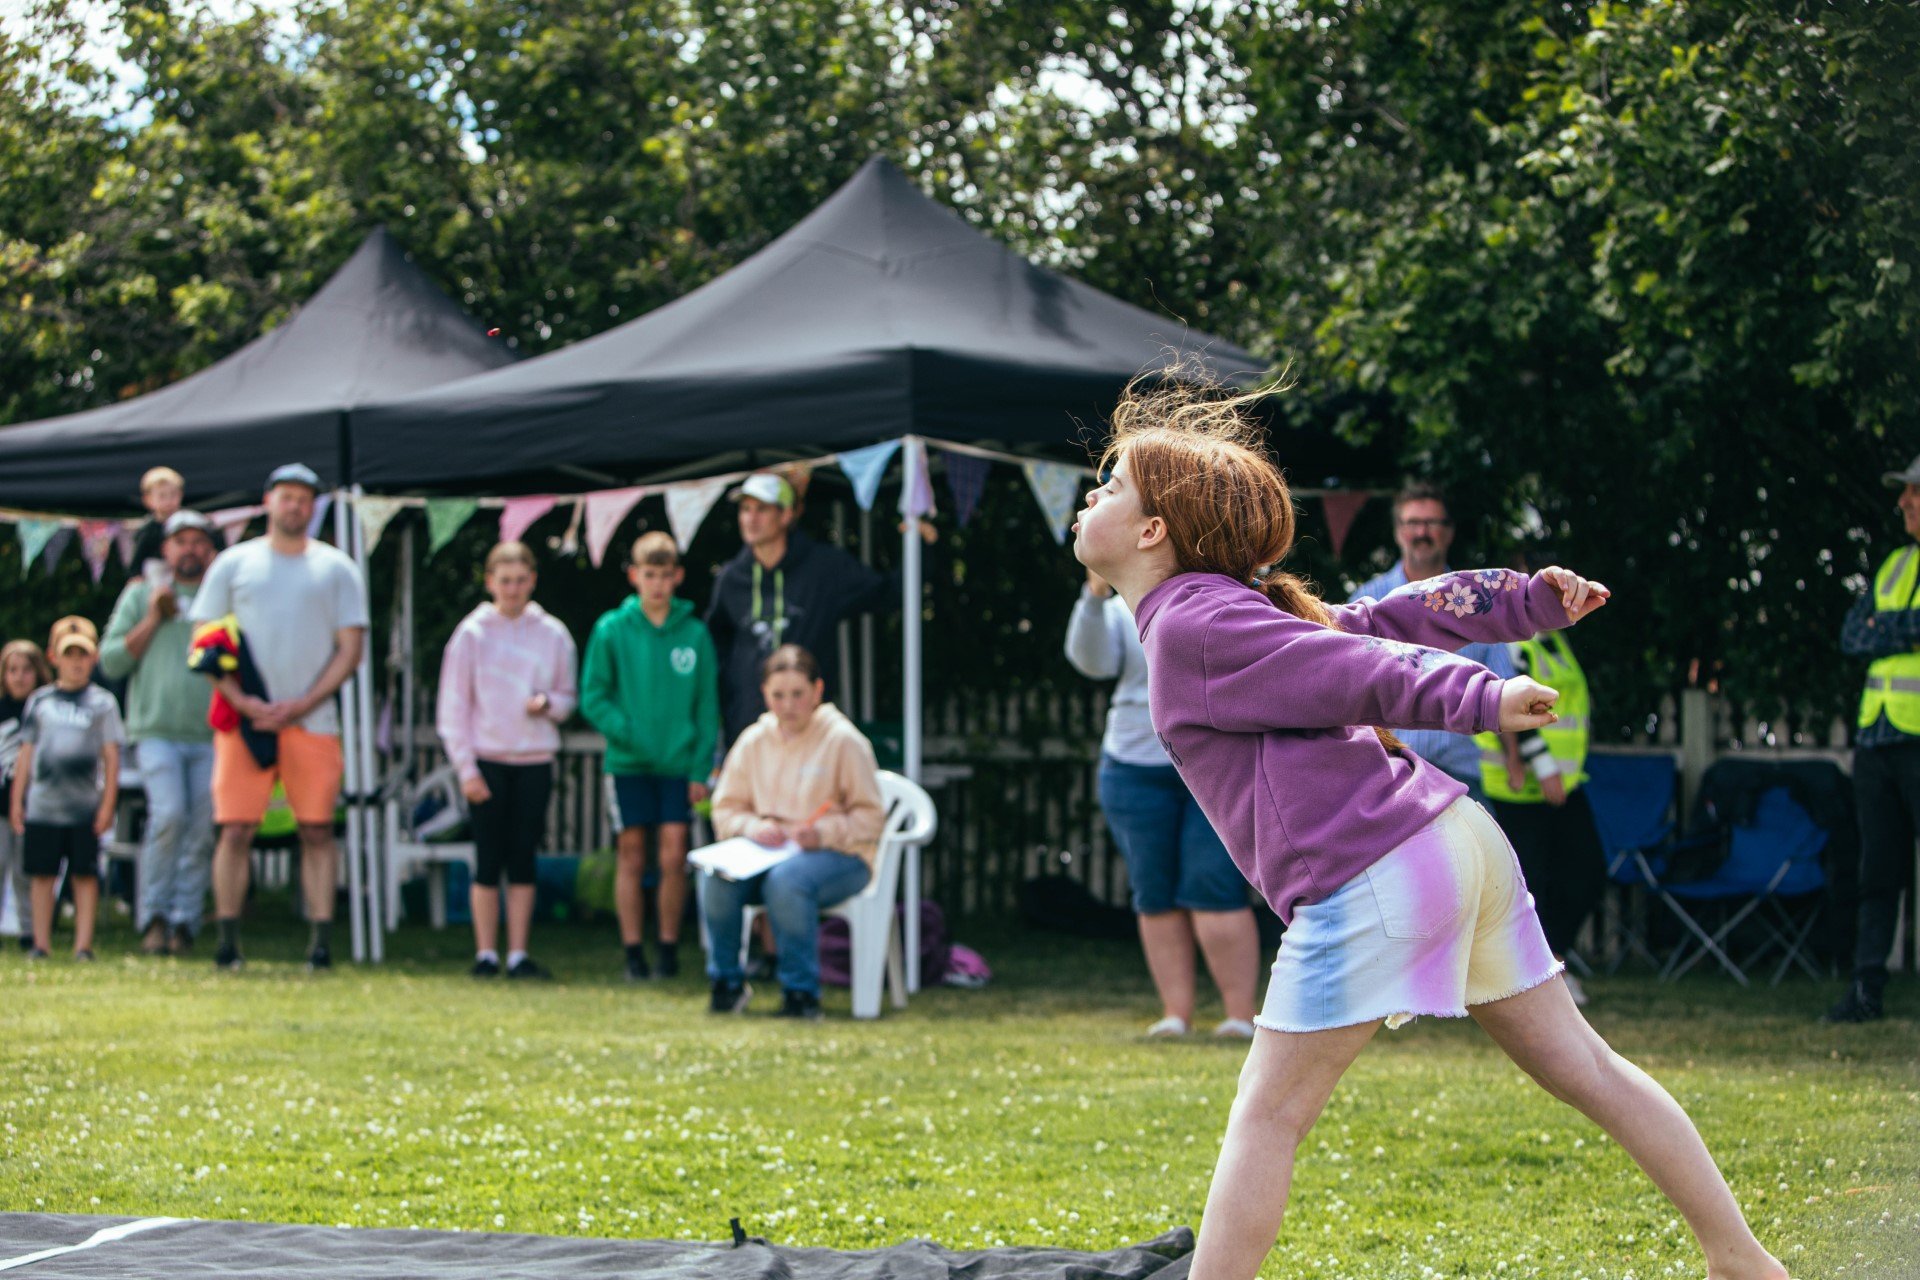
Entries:
[[1246, 879], [1219, 842], [1179, 771], [1100, 756], [1100, 808], [1127, 860], [1133, 910], [1238, 912]]

